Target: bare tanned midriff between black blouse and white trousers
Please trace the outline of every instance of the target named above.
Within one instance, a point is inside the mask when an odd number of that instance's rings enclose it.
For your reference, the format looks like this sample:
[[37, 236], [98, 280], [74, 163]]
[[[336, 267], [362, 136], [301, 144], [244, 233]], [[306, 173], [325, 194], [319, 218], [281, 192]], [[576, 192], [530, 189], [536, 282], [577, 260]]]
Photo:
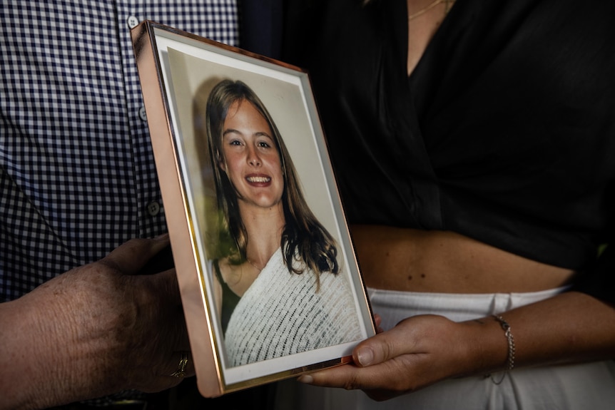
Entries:
[[538, 292], [574, 271], [529, 260], [454, 232], [352, 225], [367, 287], [406, 292]]

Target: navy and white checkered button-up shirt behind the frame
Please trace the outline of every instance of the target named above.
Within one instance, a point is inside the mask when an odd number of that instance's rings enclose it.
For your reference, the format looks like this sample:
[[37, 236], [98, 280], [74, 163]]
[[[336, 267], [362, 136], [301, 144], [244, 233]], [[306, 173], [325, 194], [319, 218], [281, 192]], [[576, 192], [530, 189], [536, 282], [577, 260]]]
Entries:
[[166, 231], [130, 28], [238, 45], [235, 0], [5, 0], [0, 297]]

